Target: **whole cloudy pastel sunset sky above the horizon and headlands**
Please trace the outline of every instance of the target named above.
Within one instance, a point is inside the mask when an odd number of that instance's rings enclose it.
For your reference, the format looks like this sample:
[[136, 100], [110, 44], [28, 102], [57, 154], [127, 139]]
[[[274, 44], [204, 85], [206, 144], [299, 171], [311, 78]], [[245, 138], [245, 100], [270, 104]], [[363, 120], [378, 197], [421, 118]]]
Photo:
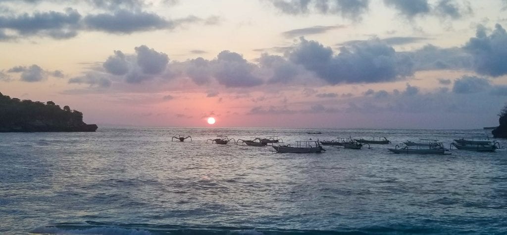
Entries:
[[0, 0], [0, 92], [99, 126], [482, 128], [505, 28], [507, 0]]

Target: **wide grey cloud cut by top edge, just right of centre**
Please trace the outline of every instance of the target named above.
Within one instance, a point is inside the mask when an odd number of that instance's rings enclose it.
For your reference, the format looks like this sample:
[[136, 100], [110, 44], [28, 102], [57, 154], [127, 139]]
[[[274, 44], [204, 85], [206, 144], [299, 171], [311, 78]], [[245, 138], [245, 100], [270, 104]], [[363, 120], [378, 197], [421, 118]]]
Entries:
[[360, 20], [369, 9], [370, 0], [271, 0], [275, 8], [285, 14], [336, 14], [343, 18]]

